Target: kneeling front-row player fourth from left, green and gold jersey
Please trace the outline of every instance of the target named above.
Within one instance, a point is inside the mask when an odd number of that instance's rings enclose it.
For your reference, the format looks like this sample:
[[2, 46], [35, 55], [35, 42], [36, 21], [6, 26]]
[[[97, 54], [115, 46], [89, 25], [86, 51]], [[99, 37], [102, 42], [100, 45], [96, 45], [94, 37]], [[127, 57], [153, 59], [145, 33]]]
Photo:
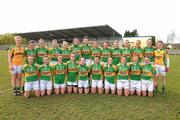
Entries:
[[68, 93], [77, 93], [77, 63], [75, 54], [70, 55], [70, 61], [67, 62], [67, 88]]

